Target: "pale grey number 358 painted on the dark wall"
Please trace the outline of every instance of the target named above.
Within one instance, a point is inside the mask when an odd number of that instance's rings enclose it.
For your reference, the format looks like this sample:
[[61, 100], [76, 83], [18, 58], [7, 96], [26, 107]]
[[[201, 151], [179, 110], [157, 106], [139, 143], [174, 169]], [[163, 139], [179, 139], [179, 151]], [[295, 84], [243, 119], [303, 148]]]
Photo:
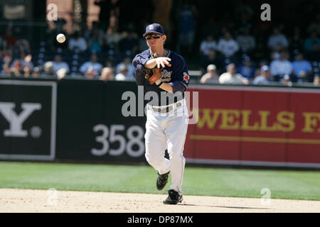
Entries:
[[[144, 154], [144, 143], [142, 142], [144, 130], [141, 126], [130, 126], [126, 130], [124, 125], [111, 125], [108, 128], [103, 124], [98, 124], [93, 127], [93, 131], [95, 133], [102, 131], [102, 135], [95, 137], [97, 143], [102, 144], [102, 148], [92, 148], [92, 155], [102, 156], [108, 153], [112, 156], [118, 156], [122, 155], [124, 151], [127, 151], [127, 154], [131, 157], [139, 157]], [[119, 134], [123, 131], [127, 135], [127, 140]], [[119, 147], [117, 149], [110, 148], [110, 144], [115, 142], [119, 143]]]

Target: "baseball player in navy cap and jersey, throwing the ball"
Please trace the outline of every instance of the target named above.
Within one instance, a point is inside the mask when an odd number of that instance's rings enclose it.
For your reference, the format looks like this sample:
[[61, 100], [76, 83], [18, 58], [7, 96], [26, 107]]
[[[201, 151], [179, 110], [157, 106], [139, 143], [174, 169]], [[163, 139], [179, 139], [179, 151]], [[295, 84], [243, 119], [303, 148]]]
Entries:
[[[184, 92], [189, 76], [181, 55], [164, 48], [166, 35], [159, 23], [146, 26], [143, 34], [148, 50], [134, 57], [134, 74], [144, 94], [153, 92], [157, 97], [146, 104], [146, 160], [158, 171], [156, 188], [164, 189], [171, 173], [171, 186], [164, 204], [181, 202], [183, 171], [186, 159], [183, 146], [188, 128], [188, 109]], [[164, 157], [168, 150], [170, 160]]]

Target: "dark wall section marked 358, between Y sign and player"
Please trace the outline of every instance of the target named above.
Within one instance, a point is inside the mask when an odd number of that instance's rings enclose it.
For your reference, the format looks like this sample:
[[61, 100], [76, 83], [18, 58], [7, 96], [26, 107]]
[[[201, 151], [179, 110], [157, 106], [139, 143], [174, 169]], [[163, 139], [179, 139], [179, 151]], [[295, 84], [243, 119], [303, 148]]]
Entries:
[[[127, 93], [125, 93], [127, 92]], [[58, 83], [57, 158], [144, 162], [145, 116], [123, 116], [134, 82], [65, 79]]]

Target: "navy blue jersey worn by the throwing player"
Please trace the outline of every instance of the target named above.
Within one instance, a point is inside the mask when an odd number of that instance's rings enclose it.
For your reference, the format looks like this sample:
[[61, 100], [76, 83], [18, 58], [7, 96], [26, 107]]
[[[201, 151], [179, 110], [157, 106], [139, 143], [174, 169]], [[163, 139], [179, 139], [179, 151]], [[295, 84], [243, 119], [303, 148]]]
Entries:
[[173, 102], [172, 100], [174, 100], [174, 102], [180, 101], [189, 83], [188, 67], [183, 57], [170, 50], [168, 50], [168, 54], [165, 57], [171, 59], [171, 67], [165, 65], [161, 70], [161, 79], [162, 82], [171, 84], [174, 93], [166, 92], [157, 87], [156, 84], [150, 84], [149, 80], [145, 78], [146, 75], [150, 77], [152, 75], [152, 70], [144, 67], [144, 64], [152, 58], [149, 49], [139, 53], [134, 57], [134, 60], [132, 60], [136, 82], [138, 85], [144, 86], [144, 94], [146, 94], [146, 92], [156, 92], [156, 94], [158, 94], [159, 103], [156, 102], [157, 100], [151, 100], [150, 104], [154, 106], [168, 105]]

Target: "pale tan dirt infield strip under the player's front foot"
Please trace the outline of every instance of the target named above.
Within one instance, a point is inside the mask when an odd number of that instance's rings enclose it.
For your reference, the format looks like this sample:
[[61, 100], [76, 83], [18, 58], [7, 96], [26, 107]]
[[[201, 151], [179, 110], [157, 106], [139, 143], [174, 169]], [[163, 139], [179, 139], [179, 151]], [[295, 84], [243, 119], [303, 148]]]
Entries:
[[320, 212], [320, 201], [183, 196], [176, 206], [164, 205], [166, 194], [72, 192], [0, 189], [0, 212]]

